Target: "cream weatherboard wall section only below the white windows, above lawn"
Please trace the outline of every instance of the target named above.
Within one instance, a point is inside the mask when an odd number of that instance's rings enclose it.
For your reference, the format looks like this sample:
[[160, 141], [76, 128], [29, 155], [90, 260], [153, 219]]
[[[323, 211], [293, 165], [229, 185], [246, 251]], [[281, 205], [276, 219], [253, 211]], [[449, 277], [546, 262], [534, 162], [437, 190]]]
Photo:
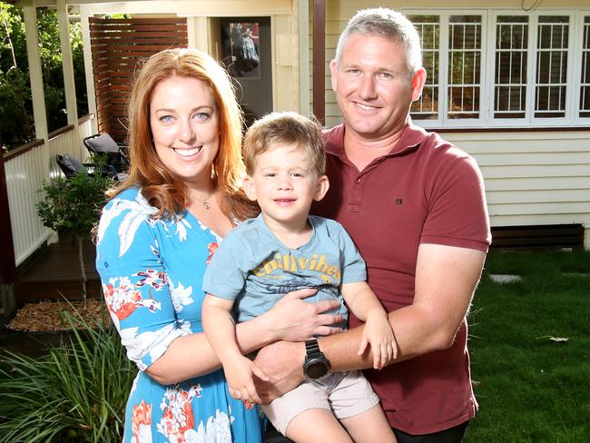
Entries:
[[476, 158], [492, 226], [581, 223], [587, 241], [590, 131], [442, 136]]

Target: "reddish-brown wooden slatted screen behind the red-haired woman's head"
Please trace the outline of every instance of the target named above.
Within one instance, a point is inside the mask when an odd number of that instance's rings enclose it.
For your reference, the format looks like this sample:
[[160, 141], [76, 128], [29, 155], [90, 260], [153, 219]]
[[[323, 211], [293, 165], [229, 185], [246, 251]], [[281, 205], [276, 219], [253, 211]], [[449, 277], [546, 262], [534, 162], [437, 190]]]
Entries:
[[123, 143], [138, 62], [162, 49], [186, 47], [186, 19], [90, 17], [89, 22], [98, 130]]

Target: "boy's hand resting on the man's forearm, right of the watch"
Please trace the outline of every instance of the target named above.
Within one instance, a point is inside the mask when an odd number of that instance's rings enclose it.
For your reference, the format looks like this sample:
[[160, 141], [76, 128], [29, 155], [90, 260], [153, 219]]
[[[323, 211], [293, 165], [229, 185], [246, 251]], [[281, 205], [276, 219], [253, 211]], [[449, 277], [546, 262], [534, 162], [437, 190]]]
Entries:
[[391, 330], [388, 314], [384, 310], [369, 312], [360, 340], [359, 355], [365, 352], [368, 344], [373, 353], [375, 369], [382, 369], [389, 361], [398, 357], [398, 343]]

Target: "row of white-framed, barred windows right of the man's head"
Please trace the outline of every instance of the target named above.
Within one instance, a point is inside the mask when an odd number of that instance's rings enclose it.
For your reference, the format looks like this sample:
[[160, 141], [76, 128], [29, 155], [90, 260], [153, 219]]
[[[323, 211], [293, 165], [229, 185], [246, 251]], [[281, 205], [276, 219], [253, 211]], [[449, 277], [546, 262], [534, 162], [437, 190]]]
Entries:
[[590, 123], [590, 11], [408, 12], [427, 84], [424, 126]]

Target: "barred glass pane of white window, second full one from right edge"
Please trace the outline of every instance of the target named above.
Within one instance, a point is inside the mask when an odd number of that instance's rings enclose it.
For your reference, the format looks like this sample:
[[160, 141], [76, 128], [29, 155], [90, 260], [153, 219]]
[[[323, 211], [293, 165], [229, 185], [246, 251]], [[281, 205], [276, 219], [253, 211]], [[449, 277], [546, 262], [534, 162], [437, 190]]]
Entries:
[[495, 118], [524, 118], [528, 17], [499, 15], [496, 24]]

